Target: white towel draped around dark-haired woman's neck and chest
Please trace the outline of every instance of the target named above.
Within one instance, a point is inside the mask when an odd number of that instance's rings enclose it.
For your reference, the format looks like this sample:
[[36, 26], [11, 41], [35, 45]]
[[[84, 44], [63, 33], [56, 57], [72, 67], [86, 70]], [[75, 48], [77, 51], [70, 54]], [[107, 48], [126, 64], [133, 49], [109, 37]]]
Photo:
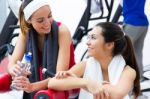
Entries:
[[[112, 61], [108, 66], [108, 75], [110, 84], [115, 85], [120, 79], [121, 73], [125, 67], [126, 63], [121, 55], [113, 57]], [[103, 81], [102, 70], [99, 62], [90, 57], [87, 59], [85, 72], [83, 78], [92, 79], [95, 81]], [[93, 99], [93, 95], [83, 89], [80, 91], [79, 99]], [[127, 95], [124, 99], [130, 99]]]

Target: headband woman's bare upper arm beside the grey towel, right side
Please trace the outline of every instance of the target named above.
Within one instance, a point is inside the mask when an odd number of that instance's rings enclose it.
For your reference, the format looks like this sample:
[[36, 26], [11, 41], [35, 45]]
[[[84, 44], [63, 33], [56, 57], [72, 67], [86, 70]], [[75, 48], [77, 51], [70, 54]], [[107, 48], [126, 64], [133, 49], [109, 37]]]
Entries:
[[59, 52], [56, 71], [64, 71], [69, 68], [71, 34], [68, 28], [61, 24], [59, 26]]

